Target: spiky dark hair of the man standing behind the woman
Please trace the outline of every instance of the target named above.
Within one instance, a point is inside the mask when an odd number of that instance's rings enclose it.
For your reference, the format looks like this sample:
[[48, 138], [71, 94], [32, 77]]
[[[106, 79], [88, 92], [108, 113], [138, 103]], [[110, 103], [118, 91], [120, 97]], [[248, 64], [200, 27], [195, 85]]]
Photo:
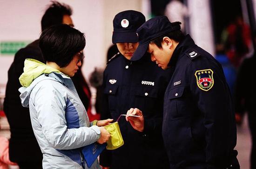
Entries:
[[57, 1], [51, 2], [52, 4], [49, 5], [41, 20], [42, 31], [47, 27], [62, 24], [64, 15], [72, 15], [72, 9], [67, 4], [61, 4]]

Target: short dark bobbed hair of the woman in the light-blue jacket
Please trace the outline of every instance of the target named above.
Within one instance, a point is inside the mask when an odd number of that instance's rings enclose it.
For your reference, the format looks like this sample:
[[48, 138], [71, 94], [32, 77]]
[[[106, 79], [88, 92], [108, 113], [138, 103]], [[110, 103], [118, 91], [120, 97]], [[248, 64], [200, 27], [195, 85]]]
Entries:
[[45, 61], [55, 62], [60, 67], [66, 67], [85, 44], [84, 34], [65, 24], [46, 28], [39, 38]]

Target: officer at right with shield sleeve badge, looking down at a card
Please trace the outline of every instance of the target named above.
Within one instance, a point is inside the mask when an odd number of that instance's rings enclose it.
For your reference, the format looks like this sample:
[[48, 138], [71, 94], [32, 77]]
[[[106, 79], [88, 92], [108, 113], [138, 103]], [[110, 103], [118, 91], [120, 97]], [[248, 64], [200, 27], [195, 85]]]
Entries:
[[[174, 69], [162, 124], [170, 169], [239, 169], [235, 115], [222, 66], [184, 36], [180, 24], [166, 16], [148, 20], [137, 30], [139, 46], [131, 58], [148, 51], [162, 69]], [[138, 109], [130, 113], [144, 115]], [[139, 126], [143, 116], [127, 120]]]

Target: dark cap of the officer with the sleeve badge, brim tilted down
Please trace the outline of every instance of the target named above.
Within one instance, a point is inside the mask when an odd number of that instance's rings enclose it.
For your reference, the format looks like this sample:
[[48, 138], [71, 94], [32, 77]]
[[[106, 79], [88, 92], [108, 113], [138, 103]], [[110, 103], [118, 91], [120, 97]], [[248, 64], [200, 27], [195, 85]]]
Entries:
[[180, 22], [171, 23], [166, 16], [158, 16], [148, 20], [137, 30], [139, 45], [131, 60], [139, 60], [148, 50], [148, 45], [153, 39], [180, 29]]

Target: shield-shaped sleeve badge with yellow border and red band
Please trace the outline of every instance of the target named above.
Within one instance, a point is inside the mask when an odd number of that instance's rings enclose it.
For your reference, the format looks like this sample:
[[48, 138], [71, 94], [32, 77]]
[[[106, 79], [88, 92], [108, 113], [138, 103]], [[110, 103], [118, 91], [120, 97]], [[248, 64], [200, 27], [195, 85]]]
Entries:
[[195, 71], [196, 83], [199, 89], [209, 91], [213, 84], [213, 71], [211, 69]]

